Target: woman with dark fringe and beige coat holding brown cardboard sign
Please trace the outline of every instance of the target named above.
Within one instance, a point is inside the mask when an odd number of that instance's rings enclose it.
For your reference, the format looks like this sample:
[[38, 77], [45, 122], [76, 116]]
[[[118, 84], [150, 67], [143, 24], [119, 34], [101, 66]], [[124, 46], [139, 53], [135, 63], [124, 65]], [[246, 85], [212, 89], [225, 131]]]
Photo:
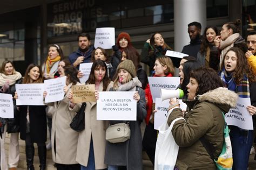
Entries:
[[[98, 91], [109, 91], [113, 86], [107, 74], [107, 66], [104, 61], [96, 60], [91, 68], [91, 73], [86, 84], [95, 84], [98, 98]], [[72, 101], [72, 93], [70, 93]], [[72, 107], [72, 104], [70, 104]], [[108, 121], [97, 121], [97, 103], [86, 102], [85, 108], [85, 129], [79, 133], [76, 161], [84, 169], [105, 169], [104, 164], [105, 146], [106, 146], [106, 128]]]

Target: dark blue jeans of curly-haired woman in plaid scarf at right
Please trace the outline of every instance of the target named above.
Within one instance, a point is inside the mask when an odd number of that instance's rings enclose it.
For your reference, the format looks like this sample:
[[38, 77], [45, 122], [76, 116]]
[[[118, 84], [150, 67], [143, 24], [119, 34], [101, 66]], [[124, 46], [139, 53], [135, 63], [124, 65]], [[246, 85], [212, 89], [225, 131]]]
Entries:
[[240, 130], [230, 126], [230, 139], [233, 152], [233, 170], [247, 170], [250, 150], [253, 142], [253, 130]]

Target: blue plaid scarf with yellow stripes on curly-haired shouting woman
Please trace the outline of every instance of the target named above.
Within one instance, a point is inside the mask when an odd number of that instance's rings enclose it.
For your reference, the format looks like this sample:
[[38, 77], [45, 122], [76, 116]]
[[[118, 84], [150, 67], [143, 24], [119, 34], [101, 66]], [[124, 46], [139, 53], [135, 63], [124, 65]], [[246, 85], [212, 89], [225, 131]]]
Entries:
[[220, 79], [226, 84], [228, 90], [234, 91], [239, 97], [250, 97], [250, 83], [246, 75], [242, 77], [240, 84], [236, 84], [233, 74], [228, 75], [225, 68], [223, 68], [220, 72]]

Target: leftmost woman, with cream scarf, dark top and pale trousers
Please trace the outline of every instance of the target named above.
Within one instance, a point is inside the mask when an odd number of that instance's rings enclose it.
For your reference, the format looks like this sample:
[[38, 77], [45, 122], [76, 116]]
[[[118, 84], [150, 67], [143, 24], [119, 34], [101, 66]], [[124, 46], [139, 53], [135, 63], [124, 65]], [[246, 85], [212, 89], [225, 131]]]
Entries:
[[[17, 72], [14, 68], [14, 63], [11, 61], [4, 61], [2, 63], [2, 70], [0, 73], [0, 89], [1, 93], [15, 94], [15, 84], [22, 83], [22, 75]], [[10, 143], [9, 143], [9, 158], [8, 165], [10, 169], [16, 169], [19, 161], [19, 112], [16, 107], [16, 101], [14, 102], [14, 118], [0, 118], [2, 124], [1, 127], [1, 168], [7, 169], [7, 160], [5, 159], [5, 134], [6, 132], [11, 133]]]

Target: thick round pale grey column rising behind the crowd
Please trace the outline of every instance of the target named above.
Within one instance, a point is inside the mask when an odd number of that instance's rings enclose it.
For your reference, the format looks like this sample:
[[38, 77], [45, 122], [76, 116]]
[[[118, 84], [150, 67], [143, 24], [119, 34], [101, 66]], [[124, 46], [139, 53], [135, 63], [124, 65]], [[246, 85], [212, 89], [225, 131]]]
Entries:
[[205, 0], [174, 0], [174, 51], [181, 52], [190, 43], [187, 24], [199, 22], [203, 33], [206, 27]]

